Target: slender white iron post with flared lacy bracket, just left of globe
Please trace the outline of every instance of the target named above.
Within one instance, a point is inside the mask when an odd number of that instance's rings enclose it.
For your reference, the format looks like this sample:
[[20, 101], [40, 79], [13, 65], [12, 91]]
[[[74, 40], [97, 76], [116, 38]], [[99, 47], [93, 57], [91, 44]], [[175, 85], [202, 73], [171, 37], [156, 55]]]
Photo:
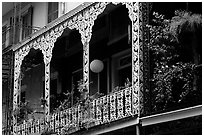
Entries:
[[83, 82], [89, 92], [89, 42], [92, 36], [92, 28], [97, 16], [101, 14], [107, 3], [100, 2], [85, 10], [82, 15], [78, 15], [79, 21], [75, 28], [81, 34], [81, 42], [83, 44]]

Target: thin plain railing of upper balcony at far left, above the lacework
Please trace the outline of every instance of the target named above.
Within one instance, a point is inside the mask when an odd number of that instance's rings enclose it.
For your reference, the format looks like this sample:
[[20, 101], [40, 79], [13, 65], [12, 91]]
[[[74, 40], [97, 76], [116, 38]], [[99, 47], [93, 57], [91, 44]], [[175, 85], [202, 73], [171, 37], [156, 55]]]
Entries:
[[25, 38], [30, 36], [32, 33], [35, 33], [39, 30], [40, 27], [27, 26], [23, 24], [16, 24], [9, 27], [3, 27], [2, 29], [2, 49], [17, 44], [20, 41], [23, 41]]

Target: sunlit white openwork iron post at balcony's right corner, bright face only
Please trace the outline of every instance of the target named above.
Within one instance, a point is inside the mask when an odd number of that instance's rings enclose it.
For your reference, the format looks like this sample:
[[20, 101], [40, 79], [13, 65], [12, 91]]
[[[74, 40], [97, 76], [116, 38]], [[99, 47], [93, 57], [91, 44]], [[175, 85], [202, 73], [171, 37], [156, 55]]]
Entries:
[[140, 51], [140, 10], [139, 2], [127, 2], [129, 18], [132, 22], [132, 115], [140, 115], [140, 93], [142, 87], [142, 56]]

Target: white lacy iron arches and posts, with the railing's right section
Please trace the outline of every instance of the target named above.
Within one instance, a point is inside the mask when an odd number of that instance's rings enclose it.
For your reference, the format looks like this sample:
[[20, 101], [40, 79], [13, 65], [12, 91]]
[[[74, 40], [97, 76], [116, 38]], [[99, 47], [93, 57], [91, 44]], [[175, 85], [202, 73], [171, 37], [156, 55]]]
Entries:
[[[92, 27], [94, 25], [94, 21], [97, 19], [97, 16], [105, 10], [108, 4], [109, 3], [106, 3], [106, 2], [99, 2], [88, 7], [84, 11], [77, 13], [75, 16], [67, 19], [66, 21], [63, 21], [61, 24], [57, 25], [49, 32], [41, 35], [40, 37], [36, 38], [34, 41], [30, 42], [29, 44], [26, 44], [22, 48], [15, 51], [14, 94], [13, 94], [14, 110], [17, 108], [17, 103], [18, 103], [17, 96], [19, 94], [19, 86], [20, 86], [19, 75], [21, 71], [22, 61], [24, 57], [29, 53], [31, 48], [40, 49], [43, 53], [44, 63], [45, 63], [45, 99], [46, 99], [45, 114], [46, 114], [46, 120], [47, 121], [49, 120], [50, 61], [52, 58], [52, 50], [54, 48], [54, 43], [56, 42], [57, 38], [62, 35], [63, 31], [66, 28], [76, 29], [81, 34], [81, 41], [83, 44], [83, 57], [84, 57], [83, 58], [83, 68], [84, 68], [83, 80], [89, 91], [89, 42], [92, 36]], [[114, 3], [114, 4], [118, 4], [118, 3]], [[117, 118], [122, 118], [123, 116], [139, 114], [139, 111], [140, 111], [139, 104], [140, 104], [140, 99], [142, 99], [141, 88], [142, 88], [143, 81], [141, 78], [143, 77], [143, 73], [142, 73], [143, 49], [142, 49], [142, 43], [141, 43], [142, 37], [140, 36], [140, 33], [142, 32], [142, 28], [140, 27], [140, 22], [142, 22], [142, 18], [140, 17], [141, 14], [139, 14], [141, 9], [139, 8], [140, 5], [138, 2], [127, 2], [127, 3], [125, 2], [122, 4], [124, 4], [126, 8], [128, 8], [129, 18], [132, 21], [132, 85], [133, 85], [133, 88], [121, 91], [123, 92], [121, 94], [116, 95], [116, 93], [114, 93], [109, 96], [110, 121], [115, 120]], [[132, 90], [132, 92], [130, 90]], [[125, 102], [123, 102], [122, 98], [125, 99]], [[104, 100], [97, 99], [96, 103], [93, 104], [96, 106], [96, 116], [94, 117], [96, 117], [99, 123], [102, 122], [102, 119], [106, 121], [108, 117], [106, 113], [106, 109], [103, 110], [105, 116], [102, 118], [102, 115], [101, 115], [102, 109], [100, 108], [100, 104], [103, 101], [105, 102], [106, 99]], [[116, 101], [118, 101], [117, 102], [118, 109], [116, 109]], [[122, 107], [123, 103], [125, 104], [125, 108]], [[123, 109], [125, 109], [124, 114], [122, 113]], [[116, 116], [116, 112], [118, 112], [118, 116]], [[74, 110], [72, 113], [73, 113], [73, 116], [75, 116], [75, 113], [77, 112], [75, 112]], [[70, 118], [71, 118], [71, 112], [69, 110], [67, 115], [67, 122], [71, 121]], [[75, 119], [75, 117], [73, 118]], [[17, 120], [15, 117], [13, 117], [13, 120], [14, 120], [13, 121], [14, 134], [16, 134]], [[31, 128], [31, 132], [34, 132], [32, 131], [32, 129], [33, 128]]]

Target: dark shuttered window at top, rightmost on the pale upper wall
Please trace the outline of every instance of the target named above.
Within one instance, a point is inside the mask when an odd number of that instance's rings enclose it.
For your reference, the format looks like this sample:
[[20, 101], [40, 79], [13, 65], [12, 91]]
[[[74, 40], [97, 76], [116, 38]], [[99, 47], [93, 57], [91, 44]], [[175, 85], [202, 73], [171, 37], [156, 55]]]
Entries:
[[58, 2], [48, 3], [48, 23], [58, 18]]

